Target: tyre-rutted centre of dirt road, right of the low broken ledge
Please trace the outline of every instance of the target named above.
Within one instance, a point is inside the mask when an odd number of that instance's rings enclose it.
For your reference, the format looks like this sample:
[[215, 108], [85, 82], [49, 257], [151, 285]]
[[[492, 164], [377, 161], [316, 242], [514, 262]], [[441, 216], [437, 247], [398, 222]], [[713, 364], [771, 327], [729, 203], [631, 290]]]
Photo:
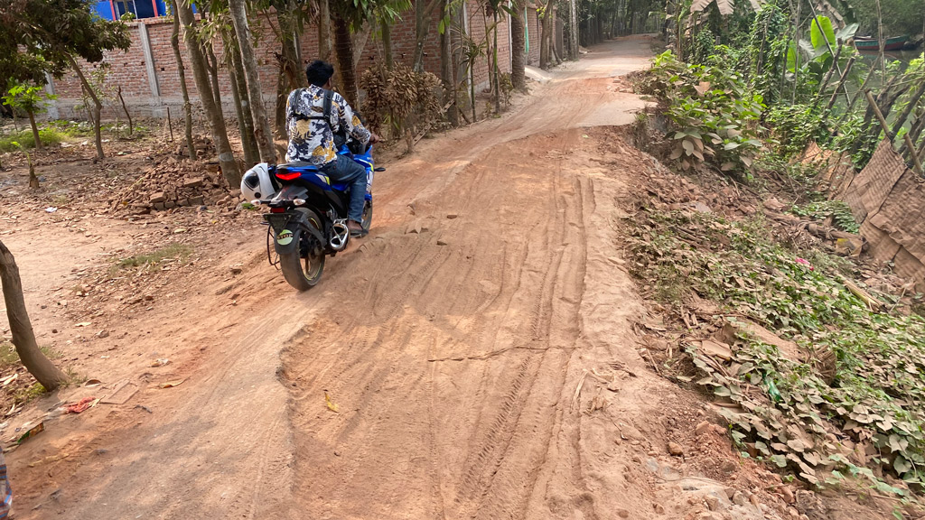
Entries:
[[[629, 318], [641, 308], [616, 258], [621, 172], [640, 157], [614, 133], [579, 128], [632, 122], [641, 104], [610, 76], [647, 55], [642, 40], [599, 46], [512, 117], [383, 175], [374, 238], [332, 263], [316, 300], [327, 310], [284, 358], [300, 510], [653, 511], [614, 443], [620, 431], [657, 443], [653, 412], [670, 391], [635, 353]], [[618, 391], [586, 371], [616, 377]]]

